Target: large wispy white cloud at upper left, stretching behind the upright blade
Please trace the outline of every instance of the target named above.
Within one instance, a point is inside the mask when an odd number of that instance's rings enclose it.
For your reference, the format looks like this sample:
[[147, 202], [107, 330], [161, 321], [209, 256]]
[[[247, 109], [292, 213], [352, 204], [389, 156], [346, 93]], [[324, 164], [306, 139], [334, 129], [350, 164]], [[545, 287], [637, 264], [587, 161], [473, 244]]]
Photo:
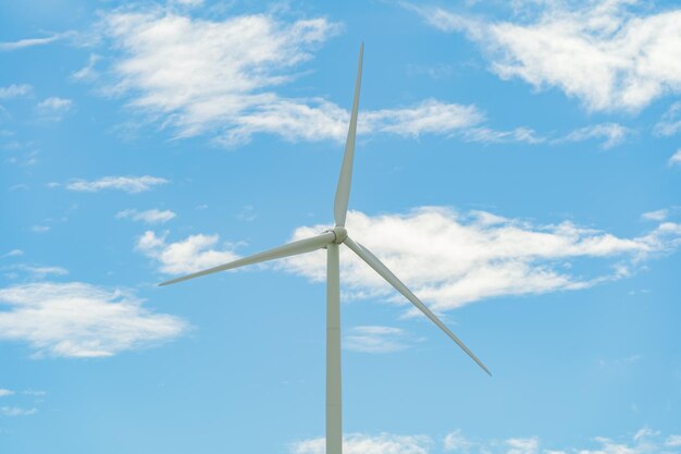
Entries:
[[[172, 125], [178, 137], [209, 134], [227, 146], [262, 133], [292, 142], [343, 140], [346, 109], [276, 90], [338, 29], [325, 19], [287, 24], [265, 14], [215, 22], [161, 10], [112, 13], [102, 30], [121, 53], [106, 91], [129, 97], [131, 108]], [[250, 46], [242, 46], [244, 40]], [[473, 106], [428, 99], [362, 111], [358, 127], [362, 134], [418, 137], [451, 134], [483, 116]]]

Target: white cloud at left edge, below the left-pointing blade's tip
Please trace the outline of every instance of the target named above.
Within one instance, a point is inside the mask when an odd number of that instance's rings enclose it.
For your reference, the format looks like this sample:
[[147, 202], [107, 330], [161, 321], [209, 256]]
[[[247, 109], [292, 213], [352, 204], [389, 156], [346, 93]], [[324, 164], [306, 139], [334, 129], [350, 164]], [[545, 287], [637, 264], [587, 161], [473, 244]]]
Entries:
[[25, 342], [34, 356], [99, 357], [168, 341], [187, 323], [153, 314], [125, 290], [32, 283], [0, 289], [0, 340]]

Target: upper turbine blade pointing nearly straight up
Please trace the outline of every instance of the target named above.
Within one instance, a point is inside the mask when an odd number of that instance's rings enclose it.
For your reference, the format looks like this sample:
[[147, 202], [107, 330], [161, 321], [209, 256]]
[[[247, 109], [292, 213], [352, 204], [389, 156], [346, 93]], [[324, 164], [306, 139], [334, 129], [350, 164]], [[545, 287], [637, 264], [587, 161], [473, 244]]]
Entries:
[[348, 137], [345, 140], [345, 155], [343, 155], [343, 165], [340, 176], [336, 187], [336, 199], [334, 200], [333, 213], [336, 225], [345, 226], [345, 216], [348, 211], [348, 199], [350, 198], [350, 184], [352, 182], [352, 158], [355, 157], [355, 136], [357, 135], [357, 110], [359, 109], [359, 87], [362, 82], [362, 57], [364, 54], [364, 44], [359, 48], [359, 64], [357, 68], [357, 81], [355, 82], [355, 100], [352, 101], [352, 113], [350, 114], [350, 127]]

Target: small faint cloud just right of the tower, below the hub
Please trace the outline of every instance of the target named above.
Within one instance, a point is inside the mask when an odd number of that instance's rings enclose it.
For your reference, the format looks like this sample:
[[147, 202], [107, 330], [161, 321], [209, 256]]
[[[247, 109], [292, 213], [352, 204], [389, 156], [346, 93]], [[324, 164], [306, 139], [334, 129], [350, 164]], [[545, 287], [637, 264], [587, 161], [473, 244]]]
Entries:
[[394, 327], [354, 327], [343, 339], [343, 348], [361, 353], [392, 353], [409, 348], [411, 339]]

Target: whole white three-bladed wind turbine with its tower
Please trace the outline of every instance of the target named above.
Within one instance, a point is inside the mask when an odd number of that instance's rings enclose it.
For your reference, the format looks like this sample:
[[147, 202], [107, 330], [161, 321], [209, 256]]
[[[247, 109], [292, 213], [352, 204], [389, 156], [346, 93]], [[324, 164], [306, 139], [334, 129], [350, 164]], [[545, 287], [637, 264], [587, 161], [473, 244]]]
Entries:
[[182, 278], [163, 282], [159, 285], [170, 285], [201, 275], [212, 274], [219, 271], [259, 263], [261, 261], [310, 253], [317, 249], [326, 249], [326, 454], [342, 454], [343, 432], [340, 413], [340, 271], [338, 263], [338, 246], [345, 244], [352, 249], [362, 260], [374, 269], [383, 279], [409, 299], [419, 310], [431, 319], [441, 330], [459, 345], [478, 365], [488, 375], [490, 370], [484, 364], [457, 338], [449, 329], [385, 266], [364, 246], [356, 243], [348, 236], [345, 229], [345, 218], [350, 196], [350, 182], [352, 179], [352, 158], [355, 156], [355, 136], [357, 133], [357, 110], [359, 107], [359, 87], [362, 77], [362, 56], [364, 45], [359, 48], [359, 65], [357, 69], [357, 82], [355, 83], [355, 99], [350, 126], [345, 143], [345, 155], [340, 167], [340, 176], [336, 187], [334, 200], [334, 219], [336, 225], [320, 235], [296, 241], [265, 250], [250, 257], [244, 257], [225, 265], [198, 271]]

